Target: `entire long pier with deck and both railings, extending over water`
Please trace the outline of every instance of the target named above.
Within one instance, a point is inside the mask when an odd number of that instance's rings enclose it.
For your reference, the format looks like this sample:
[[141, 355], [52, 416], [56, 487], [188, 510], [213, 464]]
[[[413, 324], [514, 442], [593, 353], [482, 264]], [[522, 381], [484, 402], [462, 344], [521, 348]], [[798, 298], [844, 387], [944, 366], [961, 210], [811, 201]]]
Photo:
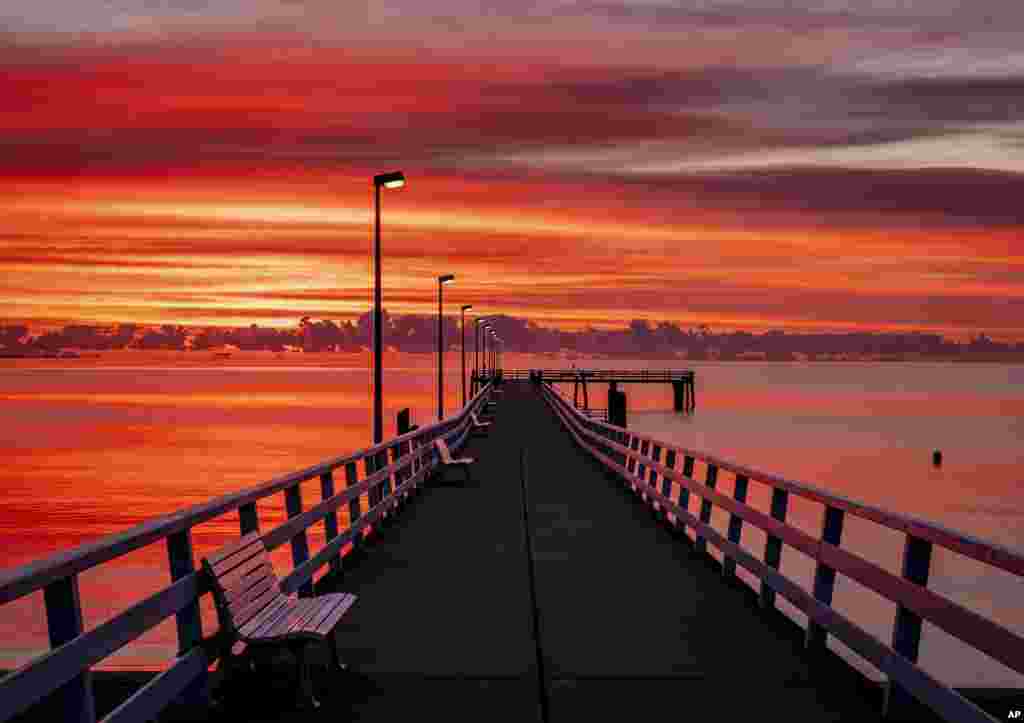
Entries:
[[[565, 373], [499, 373], [441, 422], [0, 571], [0, 605], [43, 591], [52, 644], [0, 680], [0, 721], [548, 723], [691, 711], [696, 720], [763, 720], [766, 712], [813, 721], [1006, 720], [1001, 703], [971, 699], [930, 676], [919, 644], [928, 621], [1024, 673], [1019, 634], [928, 588], [935, 546], [1018, 578], [1024, 557], [594, 419], [552, 386], [573, 380]], [[600, 374], [588, 380], [636, 381]], [[492, 424], [474, 433], [488, 402]], [[444, 469], [438, 439], [474, 458], [468, 480]], [[301, 499], [298, 485], [309, 479], [319, 480], [319, 500]], [[769, 509], [748, 504], [752, 484], [771, 488]], [[264, 530], [256, 502], [276, 495], [288, 519]], [[794, 497], [820, 506], [819, 535], [786, 523]], [[712, 524], [716, 510], [728, 515], [725, 533]], [[901, 573], [843, 546], [851, 515], [904, 537]], [[202, 626], [210, 584], [197, 571], [189, 530], [222, 516], [240, 536], [258, 531], [268, 549], [290, 548], [292, 568], [276, 570], [285, 592], [358, 597], [335, 633], [349, 670], [314, 672], [318, 711], [290, 707], [288, 666], [246, 674], [254, 679], [238, 681], [236, 692], [208, 673], [225, 648], [218, 630]], [[328, 542], [310, 553], [313, 524]], [[750, 525], [767, 535], [756, 553], [741, 545]], [[169, 586], [83, 632], [77, 576], [154, 543], [167, 547]], [[811, 589], [779, 571], [793, 549], [815, 560]], [[756, 589], [737, 578], [739, 567]], [[833, 607], [837, 575], [896, 603], [891, 639]], [[779, 597], [808, 615], [806, 629], [777, 609]], [[90, 667], [172, 616], [175, 662], [125, 699], [100, 699]], [[828, 636], [888, 683], [836, 656]]]

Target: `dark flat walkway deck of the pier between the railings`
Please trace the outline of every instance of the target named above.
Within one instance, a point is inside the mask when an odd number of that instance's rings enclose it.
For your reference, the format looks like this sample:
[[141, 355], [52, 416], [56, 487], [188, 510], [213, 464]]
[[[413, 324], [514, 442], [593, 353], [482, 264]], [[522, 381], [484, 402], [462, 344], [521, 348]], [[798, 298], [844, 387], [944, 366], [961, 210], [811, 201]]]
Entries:
[[528, 384], [505, 389], [489, 436], [465, 448], [472, 481], [450, 473], [451, 484], [428, 485], [358, 565], [323, 586], [359, 599], [337, 632], [352, 673], [318, 680], [322, 710], [273, 706], [290, 699], [283, 666], [267, 681], [280, 694], [233, 713], [531, 721], [546, 695], [548, 721], [688, 709], [759, 720], [766, 708], [788, 720], [879, 720], [877, 689], [838, 662], [812, 667], [799, 628], [763, 613], [604, 477]]

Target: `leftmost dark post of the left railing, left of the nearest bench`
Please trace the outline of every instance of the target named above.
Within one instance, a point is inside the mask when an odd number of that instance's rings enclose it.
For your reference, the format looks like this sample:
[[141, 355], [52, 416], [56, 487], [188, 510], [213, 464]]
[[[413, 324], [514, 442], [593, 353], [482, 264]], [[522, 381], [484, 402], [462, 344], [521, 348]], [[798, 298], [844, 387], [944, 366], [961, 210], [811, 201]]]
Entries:
[[[43, 602], [51, 648], [60, 647], [82, 634], [82, 599], [77, 575], [61, 578], [43, 588]], [[60, 720], [75, 723], [94, 723], [96, 720], [91, 671], [83, 670], [50, 695], [56, 701], [56, 710], [60, 711]]]

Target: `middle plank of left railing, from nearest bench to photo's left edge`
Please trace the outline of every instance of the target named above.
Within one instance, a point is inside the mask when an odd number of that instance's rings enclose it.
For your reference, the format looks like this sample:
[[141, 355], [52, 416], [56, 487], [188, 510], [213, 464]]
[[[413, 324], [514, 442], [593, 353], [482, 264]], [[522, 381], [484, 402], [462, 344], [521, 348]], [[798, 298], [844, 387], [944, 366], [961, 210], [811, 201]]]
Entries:
[[83, 669], [167, 620], [202, 592], [199, 575], [182, 578], [0, 679], [0, 720], [25, 711]]

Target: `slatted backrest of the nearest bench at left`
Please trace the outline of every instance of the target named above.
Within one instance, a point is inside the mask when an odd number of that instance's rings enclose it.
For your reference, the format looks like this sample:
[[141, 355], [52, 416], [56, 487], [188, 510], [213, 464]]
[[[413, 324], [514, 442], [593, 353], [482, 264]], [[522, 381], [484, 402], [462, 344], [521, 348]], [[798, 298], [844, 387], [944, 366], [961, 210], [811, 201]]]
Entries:
[[281, 597], [281, 583], [258, 533], [203, 558], [220, 627], [238, 631]]

